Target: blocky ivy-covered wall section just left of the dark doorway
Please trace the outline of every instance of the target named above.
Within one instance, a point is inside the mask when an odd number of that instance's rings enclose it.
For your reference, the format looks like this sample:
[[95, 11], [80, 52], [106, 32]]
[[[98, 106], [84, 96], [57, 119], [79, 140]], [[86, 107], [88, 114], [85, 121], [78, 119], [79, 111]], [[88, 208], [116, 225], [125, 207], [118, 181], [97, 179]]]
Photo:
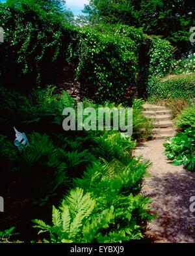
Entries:
[[127, 26], [105, 31], [102, 27], [83, 27], [79, 36], [77, 79], [85, 86], [86, 94], [97, 102], [131, 102], [142, 31]]

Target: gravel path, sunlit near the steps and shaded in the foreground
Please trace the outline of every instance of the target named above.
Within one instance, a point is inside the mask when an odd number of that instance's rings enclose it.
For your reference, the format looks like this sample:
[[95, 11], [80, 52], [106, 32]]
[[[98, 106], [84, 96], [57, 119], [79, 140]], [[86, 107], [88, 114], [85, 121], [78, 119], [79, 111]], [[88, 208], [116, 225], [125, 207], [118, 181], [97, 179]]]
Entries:
[[195, 173], [169, 164], [164, 142], [148, 141], [134, 152], [153, 163], [142, 193], [151, 197], [151, 211], [157, 212], [158, 217], [148, 223], [146, 236], [155, 242], [195, 242], [195, 212], [189, 209], [190, 197], [195, 196]]

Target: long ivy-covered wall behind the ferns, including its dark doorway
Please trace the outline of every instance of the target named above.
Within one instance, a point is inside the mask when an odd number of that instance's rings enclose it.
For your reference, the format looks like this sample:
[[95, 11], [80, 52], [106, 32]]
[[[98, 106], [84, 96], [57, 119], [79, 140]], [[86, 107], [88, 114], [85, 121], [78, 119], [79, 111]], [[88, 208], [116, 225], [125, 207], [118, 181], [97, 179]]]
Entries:
[[170, 43], [144, 35], [142, 29], [118, 24], [76, 27], [34, 0], [0, 4], [0, 17], [5, 30], [2, 85], [26, 90], [55, 84], [71, 63], [86, 96], [129, 105], [137, 91], [146, 91], [148, 83], [151, 87], [154, 77], [167, 74], [172, 62]]

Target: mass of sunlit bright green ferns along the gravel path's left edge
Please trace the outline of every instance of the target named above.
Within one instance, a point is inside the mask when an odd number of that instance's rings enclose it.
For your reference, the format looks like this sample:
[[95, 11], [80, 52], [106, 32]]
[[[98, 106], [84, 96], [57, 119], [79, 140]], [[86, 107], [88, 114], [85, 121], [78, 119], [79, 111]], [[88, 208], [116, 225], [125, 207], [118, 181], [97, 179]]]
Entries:
[[[133, 104], [137, 116], [142, 103], [139, 100]], [[89, 104], [85, 102], [85, 106]], [[149, 163], [132, 158], [134, 147], [134, 141], [118, 132], [93, 136], [91, 152], [96, 160], [88, 165], [83, 178], [74, 179], [77, 188], [65, 197], [59, 210], [53, 206], [52, 225], [34, 220], [39, 233], [48, 231], [51, 242], [141, 238], [145, 221], [153, 218], [148, 211], [149, 199], [136, 195]]]

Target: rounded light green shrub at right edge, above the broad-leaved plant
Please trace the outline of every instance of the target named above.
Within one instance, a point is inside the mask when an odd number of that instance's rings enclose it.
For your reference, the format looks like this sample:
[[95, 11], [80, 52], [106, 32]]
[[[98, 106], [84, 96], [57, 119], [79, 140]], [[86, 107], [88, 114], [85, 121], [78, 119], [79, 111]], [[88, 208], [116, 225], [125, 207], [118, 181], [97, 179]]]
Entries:
[[176, 125], [182, 130], [190, 127], [195, 128], [195, 106], [187, 107], [181, 111], [176, 118]]

